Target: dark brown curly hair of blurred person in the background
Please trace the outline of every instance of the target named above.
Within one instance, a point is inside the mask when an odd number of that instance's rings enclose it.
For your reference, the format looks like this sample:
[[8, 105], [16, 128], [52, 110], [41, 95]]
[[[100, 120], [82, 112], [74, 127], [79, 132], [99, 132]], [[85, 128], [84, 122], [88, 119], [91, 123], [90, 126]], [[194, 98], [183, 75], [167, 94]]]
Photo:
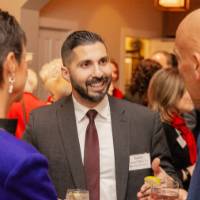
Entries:
[[162, 66], [151, 59], [144, 59], [136, 66], [132, 74], [131, 85], [125, 98], [137, 104], [147, 106], [147, 89], [151, 77], [161, 69]]

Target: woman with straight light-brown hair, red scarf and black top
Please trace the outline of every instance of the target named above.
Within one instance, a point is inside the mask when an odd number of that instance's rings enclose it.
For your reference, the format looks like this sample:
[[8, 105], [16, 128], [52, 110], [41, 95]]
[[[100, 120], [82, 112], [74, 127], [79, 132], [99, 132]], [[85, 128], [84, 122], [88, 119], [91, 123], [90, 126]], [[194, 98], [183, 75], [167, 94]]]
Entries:
[[197, 159], [197, 147], [183, 113], [190, 113], [194, 105], [178, 69], [162, 69], [154, 74], [148, 88], [148, 105], [160, 113], [174, 167], [187, 190]]

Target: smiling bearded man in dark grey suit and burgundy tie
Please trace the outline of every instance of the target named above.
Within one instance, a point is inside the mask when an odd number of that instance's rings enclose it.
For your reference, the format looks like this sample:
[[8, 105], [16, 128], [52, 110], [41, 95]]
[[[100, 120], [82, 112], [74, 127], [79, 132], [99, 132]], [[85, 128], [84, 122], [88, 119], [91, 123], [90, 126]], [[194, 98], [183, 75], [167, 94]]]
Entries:
[[[102, 38], [73, 32], [61, 54], [72, 95], [34, 111], [25, 133], [47, 156], [59, 198], [76, 188], [89, 190], [90, 200], [136, 199], [156, 157], [177, 178], [159, 116], [107, 95], [112, 69]], [[154, 174], [160, 176], [159, 159]]]

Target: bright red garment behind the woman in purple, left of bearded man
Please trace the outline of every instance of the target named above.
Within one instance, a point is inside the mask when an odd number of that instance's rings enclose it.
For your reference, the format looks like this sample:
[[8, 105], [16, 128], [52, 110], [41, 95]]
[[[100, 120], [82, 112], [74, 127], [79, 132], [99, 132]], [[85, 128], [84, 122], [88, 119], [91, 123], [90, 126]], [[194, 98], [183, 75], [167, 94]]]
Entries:
[[28, 92], [24, 92], [20, 102], [15, 102], [11, 105], [7, 117], [10, 119], [18, 119], [15, 133], [17, 138], [22, 138], [26, 124], [29, 121], [30, 112], [44, 105], [46, 105], [45, 102]]

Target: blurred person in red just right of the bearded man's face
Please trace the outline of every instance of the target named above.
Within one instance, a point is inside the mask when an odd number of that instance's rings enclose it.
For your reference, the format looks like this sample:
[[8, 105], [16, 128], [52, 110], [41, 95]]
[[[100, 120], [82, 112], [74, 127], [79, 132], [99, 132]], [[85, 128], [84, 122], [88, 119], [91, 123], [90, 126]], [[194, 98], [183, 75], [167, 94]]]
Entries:
[[124, 95], [122, 91], [116, 86], [117, 81], [119, 80], [119, 65], [114, 59], [110, 60], [110, 64], [112, 67], [112, 82], [110, 84], [108, 94], [118, 99], [123, 99]]

